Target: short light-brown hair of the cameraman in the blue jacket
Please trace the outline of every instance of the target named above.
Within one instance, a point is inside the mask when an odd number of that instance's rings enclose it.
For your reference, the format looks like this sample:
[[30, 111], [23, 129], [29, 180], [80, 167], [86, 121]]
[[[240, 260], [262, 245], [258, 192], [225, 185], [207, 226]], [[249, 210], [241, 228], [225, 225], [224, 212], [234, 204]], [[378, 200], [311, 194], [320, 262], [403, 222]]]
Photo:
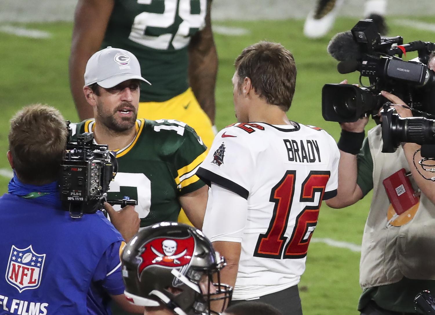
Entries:
[[67, 144], [64, 117], [54, 107], [34, 104], [10, 120], [9, 150], [18, 178], [28, 184], [59, 179]]

